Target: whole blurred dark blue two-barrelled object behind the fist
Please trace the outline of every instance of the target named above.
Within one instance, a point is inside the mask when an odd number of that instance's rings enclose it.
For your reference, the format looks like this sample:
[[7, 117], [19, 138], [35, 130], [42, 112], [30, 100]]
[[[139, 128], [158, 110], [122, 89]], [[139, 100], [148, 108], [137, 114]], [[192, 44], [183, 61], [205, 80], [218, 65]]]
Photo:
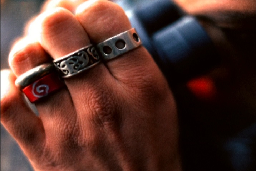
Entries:
[[218, 62], [200, 23], [170, 0], [139, 4], [129, 11], [129, 20], [168, 79], [186, 81]]

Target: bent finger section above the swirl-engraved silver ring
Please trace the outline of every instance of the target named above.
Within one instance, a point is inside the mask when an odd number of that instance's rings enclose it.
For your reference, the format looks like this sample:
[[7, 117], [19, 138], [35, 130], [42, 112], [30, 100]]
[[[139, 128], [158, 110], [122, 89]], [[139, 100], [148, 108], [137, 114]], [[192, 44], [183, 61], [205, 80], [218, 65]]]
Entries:
[[42, 13], [34, 22], [33, 29], [37, 32], [36, 38], [41, 46], [54, 59], [89, 43], [79, 21], [72, 12], [62, 7]]

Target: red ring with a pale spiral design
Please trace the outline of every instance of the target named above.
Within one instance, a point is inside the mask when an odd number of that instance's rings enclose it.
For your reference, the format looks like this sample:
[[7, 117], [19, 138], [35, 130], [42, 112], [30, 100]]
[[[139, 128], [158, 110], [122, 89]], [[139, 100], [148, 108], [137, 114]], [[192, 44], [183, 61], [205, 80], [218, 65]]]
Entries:
[[64, 85], [64, 82], [60, 80], [58, 74], [50, 73], [26, 86], [22, 91], [28, 97], [29, 101], [34, 103], [38, 99], [47, 96], [49, 93], [60, 89]]

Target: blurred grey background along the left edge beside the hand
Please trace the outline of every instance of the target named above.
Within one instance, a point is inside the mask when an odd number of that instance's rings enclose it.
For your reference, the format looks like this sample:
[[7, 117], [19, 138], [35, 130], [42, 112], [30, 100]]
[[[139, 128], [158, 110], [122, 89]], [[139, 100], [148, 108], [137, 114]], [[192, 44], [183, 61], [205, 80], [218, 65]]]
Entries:
[[[1, 70], [9, 68], [12, 43], [23, 34], [25, 23], [40, 9], [43, 0], [1, 0]], [[1, 171], [33, 171], [16, 141], [1, 124]]]

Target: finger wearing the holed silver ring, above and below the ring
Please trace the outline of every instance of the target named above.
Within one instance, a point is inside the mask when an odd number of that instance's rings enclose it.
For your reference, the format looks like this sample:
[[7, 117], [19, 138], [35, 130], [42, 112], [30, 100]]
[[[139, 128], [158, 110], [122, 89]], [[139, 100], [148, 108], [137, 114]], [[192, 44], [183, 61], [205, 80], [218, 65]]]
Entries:
[[[84, 2], [78, 6], [76, 18], [93, 43], [100, 43], [131, 29], [124, 10], [114, 2], [106, 0]], [[154, 74], [158, 75], [161, 72], [143, 46], [109, 60], [105, 65], [114, 78], [126, 85], [133, 84], [131, 86], [147, 85], [147, 81], [158, 81], [152, 78], [157, 78]]]

